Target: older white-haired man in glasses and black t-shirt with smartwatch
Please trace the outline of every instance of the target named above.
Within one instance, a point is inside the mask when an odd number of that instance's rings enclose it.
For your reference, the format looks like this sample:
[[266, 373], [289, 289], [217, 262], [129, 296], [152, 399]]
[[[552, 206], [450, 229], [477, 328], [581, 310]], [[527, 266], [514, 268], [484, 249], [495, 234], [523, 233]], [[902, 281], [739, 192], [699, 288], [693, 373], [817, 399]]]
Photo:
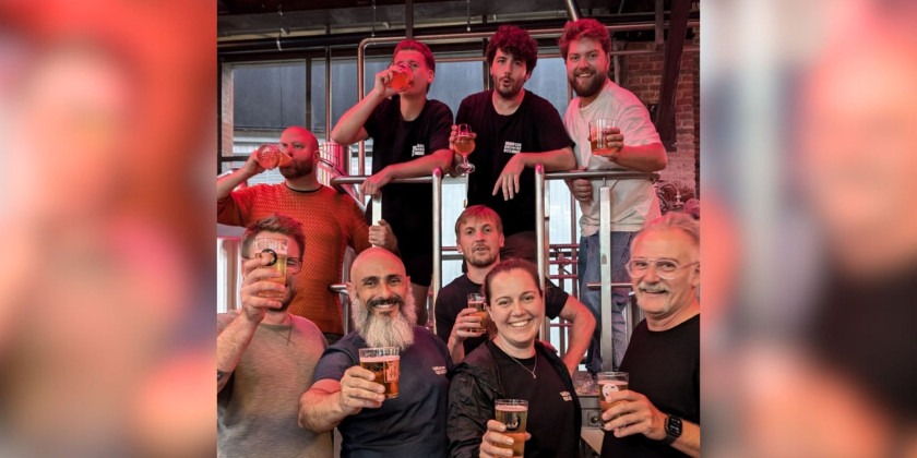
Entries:
[[700, 228], [670, 213], [634, 238], [627, 264], [646, 320], [621, 362], [629, 389], [606, 396], [603, 457], [701, 455]]

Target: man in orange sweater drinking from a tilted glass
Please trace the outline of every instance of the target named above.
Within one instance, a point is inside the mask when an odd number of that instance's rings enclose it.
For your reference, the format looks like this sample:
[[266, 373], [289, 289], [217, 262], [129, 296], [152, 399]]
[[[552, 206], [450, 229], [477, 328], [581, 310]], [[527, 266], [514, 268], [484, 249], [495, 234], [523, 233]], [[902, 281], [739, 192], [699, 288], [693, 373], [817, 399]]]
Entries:
[[216, 220], [248, 226], [276, 213], [302, 225], [309, 257], [296, 275], [296, 297], [289, 312], [315, 323], [331, 343], [344, 334], [344, 326], [340, 299], [327, 287], [341, 282], [345, 250], [352, 246], [360, 253], [372, 244], [396, 251], [397, 241], [388, 224], [381, 221], [367, 227], [353, 198], [319, 183], [315, 176], [319, 142], [311, 132], [289, 126], [281, 135], [281, 147], [293, 159], [279, 168], [283, 183], [234, 191], [264, 171], [254, 155], [242, 168], [217, 180]]

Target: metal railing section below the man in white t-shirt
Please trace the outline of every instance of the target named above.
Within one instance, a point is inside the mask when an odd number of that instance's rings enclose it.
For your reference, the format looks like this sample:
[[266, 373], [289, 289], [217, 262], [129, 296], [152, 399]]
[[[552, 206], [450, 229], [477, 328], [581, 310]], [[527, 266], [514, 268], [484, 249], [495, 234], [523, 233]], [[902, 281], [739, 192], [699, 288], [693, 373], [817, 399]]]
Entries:
[[[612, 338], [611, 328], [611, 288], [630, 288], [630, 284], [612, 284], [611, 282], [611, 188], [608, 186], [608, 180], [615, 182], [619, 180], [658, 180], [659, 173], [634, 172], [627, 170], [602, 170], [602, 171], [561, 171], [545, 173], [544, 167], [539, 164], [535, 167], [535, 237], [536, 245], [544, 248], [547, 243], [545, 238], [545, 180], [571, 180], [571, 179], [602, 179], [603, 183], [599, 186], [599, 258], [602, 261], [602, 281], [598, 288], [600, 293], [600, 316], [602, 316], [602, 369], [603, 371], [610, 371], [614, 364], [615, 341]], [[545, 277], [547, 276], [547, 262], [545, 260], [544, 249], [538, 250], [538, 272], [541, 274], [541, 288], [544, 289]], [[582, 273], [580, 273], [582, 275]], [[593, 288], [594, 285], [588, 285]], [[633, 333], [633, 326], [636, 323], [635, 317], [639, 316], [639, 310], [631, 306], [631, 316], [627, 320], [627, 337]], [[626, 315], [627, 316], [627, 315]], [[550, 334], [550, 324], [547, 320], [541, 324], [541, 339], [546, 339]]]

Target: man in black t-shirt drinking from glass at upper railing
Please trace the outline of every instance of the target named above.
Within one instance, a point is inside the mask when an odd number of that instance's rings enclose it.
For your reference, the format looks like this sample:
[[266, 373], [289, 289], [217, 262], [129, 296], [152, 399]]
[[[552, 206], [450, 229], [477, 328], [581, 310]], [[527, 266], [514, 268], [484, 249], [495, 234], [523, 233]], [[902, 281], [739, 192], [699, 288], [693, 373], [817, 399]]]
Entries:
[[[400, 65], [412, 69], [413, 83], [390, 87], [400, 76]], [[402, 240], [402, 261], [413, 281], [412, 294], [417, 306], [417, 324], [427, 324], [427, 290], [432, 278], [432, 193], [429, 184], [389, 184], [393, 179], [428, 177], [436, 168], [448, 170], [452, 164], [449, 129], [452, 111], [439, 100], [428, 100], [427, 92], [436, 75], [436, 60], [430, 48], [415, 40], [395, 47], [392, 67], [376, 74], [376, 86], [347, 110], [331, 137], [341, 144], [373, 138], [372, 176], [364, 181], [366, 195], [382, 192], [382, 215], [371, 215], [370, 224], [391, 225]]]

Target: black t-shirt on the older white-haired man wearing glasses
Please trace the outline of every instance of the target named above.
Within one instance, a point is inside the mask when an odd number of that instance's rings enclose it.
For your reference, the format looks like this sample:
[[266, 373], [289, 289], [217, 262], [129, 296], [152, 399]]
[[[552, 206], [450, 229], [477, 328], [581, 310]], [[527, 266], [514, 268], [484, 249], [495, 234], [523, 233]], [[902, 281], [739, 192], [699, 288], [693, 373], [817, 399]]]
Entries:
[[[640, 322], [633, 330], [621, 371], [630, 373], [629, 388], [664, 413], [701, 423], [701, 315], [662, 332]], [[681, 451], [643, 434], [615, 437], [605, 433], [603, 457], [682, 457]]]

